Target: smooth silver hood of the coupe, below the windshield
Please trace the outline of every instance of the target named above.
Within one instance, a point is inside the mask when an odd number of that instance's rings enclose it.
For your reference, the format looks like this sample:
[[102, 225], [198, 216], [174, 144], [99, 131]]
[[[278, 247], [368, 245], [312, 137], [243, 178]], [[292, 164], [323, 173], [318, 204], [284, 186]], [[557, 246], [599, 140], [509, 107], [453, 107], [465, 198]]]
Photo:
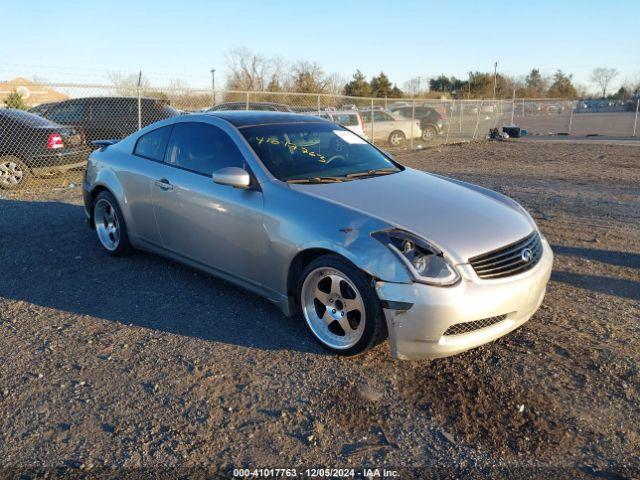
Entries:
[[456, 263], [516, 242], [535, 228], [516, 204], [410, 168], [392, 175], [291, 188], [416, 233]]

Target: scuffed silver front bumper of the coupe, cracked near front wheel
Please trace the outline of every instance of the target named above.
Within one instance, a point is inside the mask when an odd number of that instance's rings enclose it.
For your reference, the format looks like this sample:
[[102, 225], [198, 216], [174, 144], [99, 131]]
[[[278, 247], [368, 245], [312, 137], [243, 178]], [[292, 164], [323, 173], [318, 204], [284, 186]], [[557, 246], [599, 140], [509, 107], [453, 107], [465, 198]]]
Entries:
[[[469, 264], [463, 264], [458, 265], [462, 280], [453, 287], [377, 282], [383, 305], [412, 305], [408, 310], [384, 308], [392, 355], [405, 360], [447, 357], [518, 328], [542, 303], [551, 276], [553, 252], [544, 238], [542, 246], [538, 264], [513, 277], [481, 280]], [[489, 327], [444, 335], [452, 325], [501, 315], [506, 318]]]

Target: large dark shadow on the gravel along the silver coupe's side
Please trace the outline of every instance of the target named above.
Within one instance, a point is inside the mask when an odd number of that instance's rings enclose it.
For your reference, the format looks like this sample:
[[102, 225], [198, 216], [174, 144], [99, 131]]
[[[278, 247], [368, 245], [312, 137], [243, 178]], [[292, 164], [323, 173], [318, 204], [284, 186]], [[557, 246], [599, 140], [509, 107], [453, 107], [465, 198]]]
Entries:
[[262, 297], [160, 256], [108, 255], [80, 205], [0, 200], [0, 263], [6, 299], [211, 342], [326, 353]]

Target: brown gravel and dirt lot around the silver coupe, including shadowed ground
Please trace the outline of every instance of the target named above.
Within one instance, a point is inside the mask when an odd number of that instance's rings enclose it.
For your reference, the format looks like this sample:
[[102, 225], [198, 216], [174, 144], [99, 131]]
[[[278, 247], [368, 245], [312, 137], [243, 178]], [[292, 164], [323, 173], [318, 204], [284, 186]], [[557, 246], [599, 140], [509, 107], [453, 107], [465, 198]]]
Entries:
[[387, 344], [337, 358], [227, 283], [108, 257], [77, 187], [0, 201], [2, 476], [638, 478], [640, 148], [485, 142], [399, 159], [532, 212], [556, 262], [525, 326], [448, 359], [393, 361]]

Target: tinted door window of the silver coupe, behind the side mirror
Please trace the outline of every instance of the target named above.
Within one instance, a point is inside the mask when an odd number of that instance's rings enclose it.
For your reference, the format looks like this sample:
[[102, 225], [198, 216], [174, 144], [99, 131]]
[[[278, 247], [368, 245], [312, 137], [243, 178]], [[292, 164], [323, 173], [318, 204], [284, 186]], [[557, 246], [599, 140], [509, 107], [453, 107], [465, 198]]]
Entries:
[[224, 167], [244, 166], [244, 158], [229, 135], [199, 122], [174, 125], [165, 162], [204, 175]]

